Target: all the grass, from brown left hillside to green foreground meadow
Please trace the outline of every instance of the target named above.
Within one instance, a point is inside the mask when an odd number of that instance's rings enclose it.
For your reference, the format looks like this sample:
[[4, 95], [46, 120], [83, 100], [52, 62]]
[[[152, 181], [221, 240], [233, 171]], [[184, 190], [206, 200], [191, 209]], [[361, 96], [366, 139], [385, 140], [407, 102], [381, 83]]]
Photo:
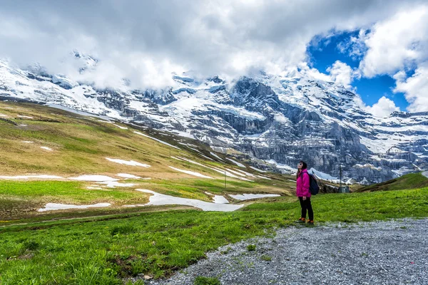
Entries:
[[[179, 145], [183, 148], [179, 153], [135, 135], [131, 129], [121, 130], [111, 124], [77, 118], [71, 113], [38, 105], [0, 103], [0, 113], [27, 125], [0, 122], [0, 175], [113, 176], [126, 172], [153, 178], [127, 180], [137, 182], [138, 187], [205, 200], [209, 199], [204, 194], [207, 190], [223, 195], [254, 191], [289, 194], [294, 184], [287, 180], [290, 177], [284, 179], [280, 175], [269, 175], [272, 180], [228, 180], [228, 188], [225, 189], [223, 177], [219, 177], [217, 172], [170, 158], [171, 151], [172, 155], [185, 155], [205, 165], [223, 167], [222, 163], [205, 160], [182, 145]], [[17, 115], [29, 115], [35, 119], [22, 122]], [[175, 144], [170, 137], [159, 138]], [[22, 140], [32, 140], [34, 144], [24, 144]], [[51, 147], [54, 151], [41, 151], [40, 146]], [[203, 152], [209, 155], [207, 150]], [[107, 162], [105, 157], [136, 160], [152, 167], [117, 165]], [[170, 170], [168, 165], [216, 179], [190, 177]], [[390, 182], [387, 187], [377, 185], [363, 190], [369, 192], [317, 195], [312, 199], [315, 219], [317, 222], [355, 222], [427, 217], [428, 187], [397, 190], [409, 188], [409, 183], [412, 188], [415, 185], [422, 187], [424, 180], [408, 176]], [[0, 284], [122, 284], [121, 278], [141, 273], [168, 276], [221, 245], [269, 234], [275, 227], [285, 227], [299, 216], [300, 211], [295, 197], [286, 195], [258, 201], [229, 213], [200, 212], [186, 210], [185, 207], [113, 207], [41, 215], [34, 213], [34, 209], [45, 202], [113, 202], [121, 205], [147, 199], [146, 196], [136, 196], [133, 188], [86, 190], [90, 184], [70, 181], [0, 182], [0, 209], [9, 207], [11, 210], [6, 220], [0, 221], [4, 224], [0, 227]], [[370, 192], [374, 189], [397, 191]], [[11, 217], [19, 214], [13, 212], [16, 209], [20, 209], [19, 212], [29, 211], [29, 215], [12, 221]], [[175, 209], [175, 212], [165, 212], [166, 209]], [[163, 212], [151, 212], [159, 210]], [[71, 219], [55, 220], [65, 217]], [[17, 222], [28, 224], [14, 224]]]

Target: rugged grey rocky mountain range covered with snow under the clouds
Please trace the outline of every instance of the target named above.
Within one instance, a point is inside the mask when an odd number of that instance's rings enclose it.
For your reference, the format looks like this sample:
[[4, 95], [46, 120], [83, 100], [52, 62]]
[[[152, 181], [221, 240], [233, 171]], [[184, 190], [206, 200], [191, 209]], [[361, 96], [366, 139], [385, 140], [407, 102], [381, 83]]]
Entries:
[[[95, 59], [78, 52], [94, 68]], [[0, 61], [0, 99], [22, 98], [106, 115], [233, 147], [282, 170], [305, 160], [315, 170], [357, 181], [379, 182], [428, 165], [428, 113], [374, 118], [360, 98], [302, 71], [261, 72], [227, 82], [191, 73], [173, 75], [163, 90], [97, 89], [43, 68], [22, 70]], [[260, 161], [259, 160], [259, 161]], [[263, 167], [263, 165], [255, 165]]]

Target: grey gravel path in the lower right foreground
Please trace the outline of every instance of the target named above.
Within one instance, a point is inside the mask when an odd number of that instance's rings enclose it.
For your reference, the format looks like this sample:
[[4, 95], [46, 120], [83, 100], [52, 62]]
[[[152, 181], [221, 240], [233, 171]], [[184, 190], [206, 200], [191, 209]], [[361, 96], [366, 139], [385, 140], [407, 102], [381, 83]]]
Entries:
[[[255, 251], [248, 251], [255, 244]], [[168, 280], [221, 284], [428, 284], [428, 219], [289, 227], [207, 254]]]

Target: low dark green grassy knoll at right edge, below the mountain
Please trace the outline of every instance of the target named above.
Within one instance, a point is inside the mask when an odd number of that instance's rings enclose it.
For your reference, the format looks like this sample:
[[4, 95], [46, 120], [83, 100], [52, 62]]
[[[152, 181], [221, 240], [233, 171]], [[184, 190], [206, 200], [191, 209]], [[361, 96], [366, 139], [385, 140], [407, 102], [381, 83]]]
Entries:
[[422, 173], [410, 173], [393, 180], [388, 180], [382, 183], [363, 187], [355, 192], [373, 192], [373, 191], [390, 191], [390, 190], [404, 190], [428, 187], [428, 178], [424, 177]]

